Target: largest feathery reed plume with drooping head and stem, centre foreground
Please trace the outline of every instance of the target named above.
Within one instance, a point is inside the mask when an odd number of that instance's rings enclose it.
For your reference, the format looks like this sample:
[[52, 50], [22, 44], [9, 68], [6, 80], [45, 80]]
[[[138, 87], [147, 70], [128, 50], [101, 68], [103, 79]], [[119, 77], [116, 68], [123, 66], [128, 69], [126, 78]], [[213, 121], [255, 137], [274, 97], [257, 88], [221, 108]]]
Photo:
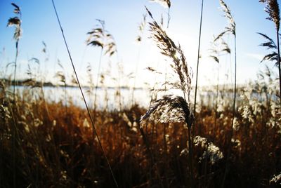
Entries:
[[177, 122], [184, 120], [185, 126], [188, 128], [189, 177], [191, 187], [193, 187], [194, 175], [192, 168], [191, 126], [194, 118], [193, 114], [190, 113], [192, 72], [190, 72], [190, 69], [188, 68], [188, 62], [183, 54], [181, 45], [178, 44], [177, 46], [174, 43], [174, 41], [166, 34], [164, 29], [162, 29], [162, 27], [155, 21], [148, 8], [146, 8], [146, 11], [148, 11], [148, 15], [150, 15], [150, 18], [152, 19], [152, 22], [149, 22], [151, 38], [156, 42], [160, 53], [171, 59], [171, 69], [174, 71], [174, 76], [178, 78], [176, 81], [171, 81], [169, 85], [171, 88], [181, 90], [183, 92], [183, 98], [164, 95], [161, 100], [157, 100], [155, 104], [148, 109], [148, 112], [142, 117], [142, 120], [148, 119], [148, 117], [152, 116], [152, 120], [157, 121], [157, 119], [154, 118], [154, 115], [158, 113], [160, 113], [160, 122]]

